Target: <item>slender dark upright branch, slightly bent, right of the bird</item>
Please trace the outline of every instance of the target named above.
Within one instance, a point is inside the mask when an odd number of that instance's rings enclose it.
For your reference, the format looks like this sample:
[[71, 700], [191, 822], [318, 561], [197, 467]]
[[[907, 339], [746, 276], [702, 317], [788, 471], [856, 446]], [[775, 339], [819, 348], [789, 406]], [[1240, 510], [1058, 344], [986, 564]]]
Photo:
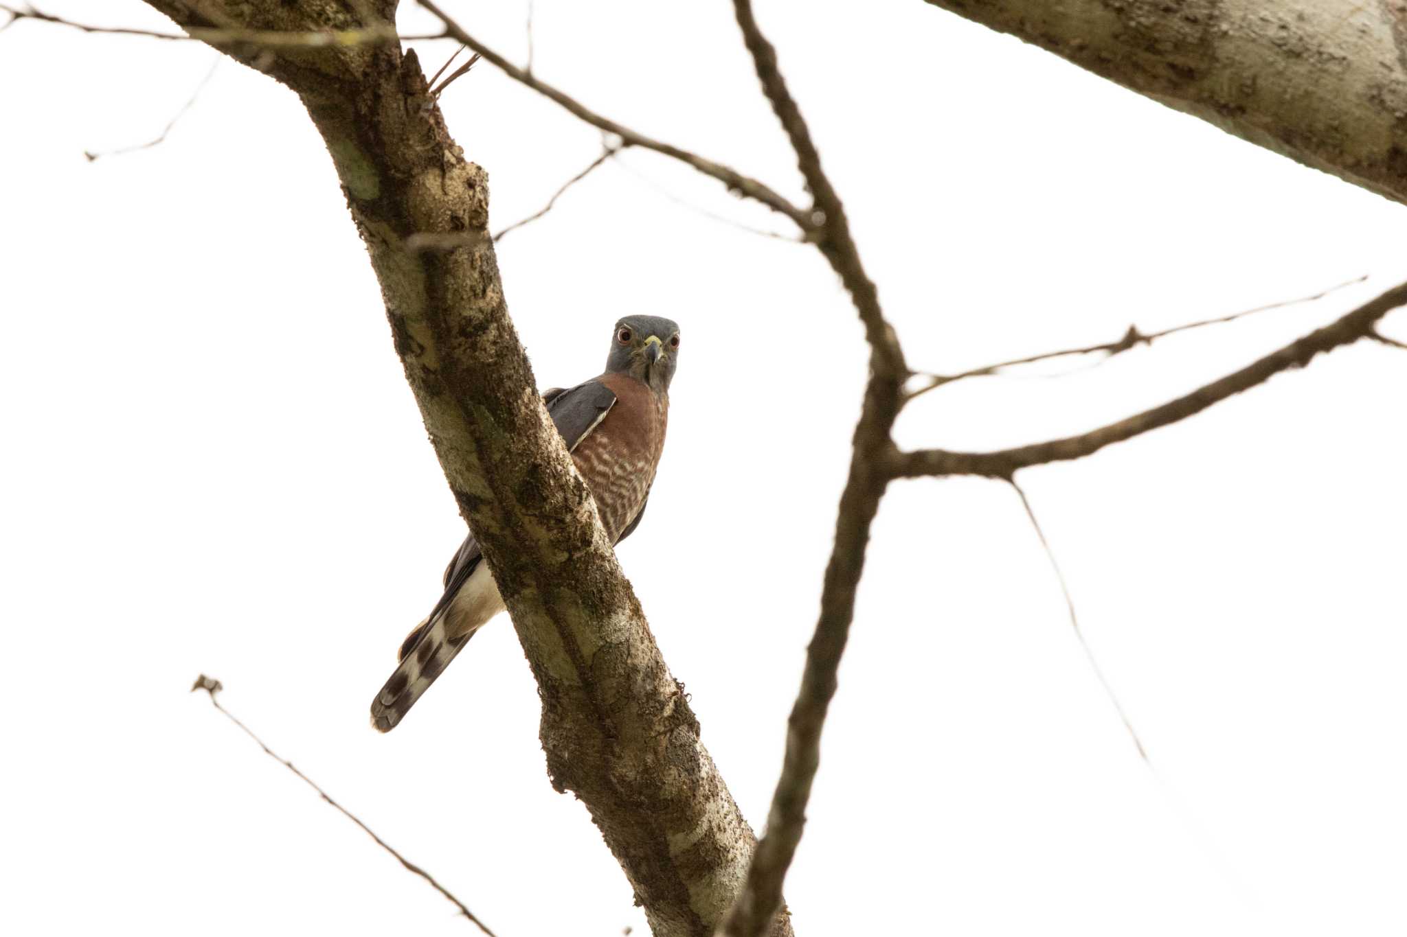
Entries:
[[820, 155], [810, 139], [806, 121], [777, 67], [777, 51], [753, 18], [751, 3], [734, 0], [733, 7], [763, 91], [791, 139], [806, 187], [816, 199], [812, 212], [815, 226], [812, 240], [850, 292], [871, 350], [870, 381], [865, 386], [860, 423], [855, 427], [850, 473], [836, 517], [836, 542], [822, 586], [820, 617], [806, 648], [801, 690], [796, 693], [796, 702], [787, 722], [781, 777], [767, 813], [767, 830], [747, 870], [743, 893], [719, 929], [719, 933], [727, 937], [760, 937], [768, 927], [775, 927], [778, 909], [785, 915], [782, 881], [806, 825], [806, 804], [810, 799], [816, 770], [820, 767], [820, 733], [830, 700], [836, 695], [836, 673], [850, 638], [870, 527], [888, 483], [884, 465], [893, 450], [889, 431], [899, 414], [903, 381], [909, 372], [893, 329], [879, 308], [878, 291], [865, 273], [860, 251], [850, 236], [850, 223], [840, 197], [820, 167]]

